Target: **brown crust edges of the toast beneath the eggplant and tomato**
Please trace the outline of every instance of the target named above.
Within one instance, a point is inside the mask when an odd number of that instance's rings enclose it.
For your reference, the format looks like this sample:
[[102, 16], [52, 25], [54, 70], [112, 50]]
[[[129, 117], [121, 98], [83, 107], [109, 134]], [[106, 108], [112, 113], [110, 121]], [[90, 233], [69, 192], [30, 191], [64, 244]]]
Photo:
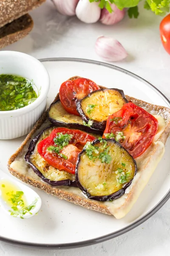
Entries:
[[[73, 77], [71, 79], [76, 79], [76, 78], [78, 78], [78, 77]], [[101, 88], [103, 88], [103, 87], [101, 87]], [[166, 120], [166, 127], [164, 129], [164, 132], [159, 137], [159, 141], [161, 141], [162, 143], [165, 144], [167, 137], [170, 134], [170, 109], [162, 107], [162, 106], [152, 105], [152, 104], [149, 104], [149, 103], [144, 102], [139, 99], [135, 99], [130, 96], [126, 96], [126, 97], [129, 101], [132, 101], [135, 104], [142, 106], [143, 108], [151, 109], [153, 111], [156, 110], [156, 111], [159, 111], [160, 113], [162, 113], [162, 115], [164, 116], [164, 119]], [[58, 98], [59, 98], [59, 94], [57, 94], [54, 101], [56, 101]], [[91, 209], [91, 210], [95, 210], [98, 212], [102, 212], [102, 213], [111, 215], [111, 212], [109, 211], [109, 207], [107, 205], [103, 204], [102, 202], [94, 201], [94, 200], [91, 200], [88, 198], [82, 198], [79, 195], [74, 194], [73, 192], [69, 192], [66, 189], [64, 190], [63, 188], [60, 189], [59, 187], [52, 187], [42, 181], [34, 180], [33, 178], [27, 177], [26, 175], [23, 175], [10, 167], [11, 163], [16, 159], [16, 157], [19, 154], [22, 153], [26, 144], [31, 140], [31, 137], [34, 135], [34, 133], [37, 131], [37, 129], [39, 129], [40, 126], [45, 122], [46, 118], [47, 118], [47, 111], [42, 114], [42, 116], [37, 121], [34, 128], [30, 131], [30, 133], [26, 137], [26, 139], [23, 141], [23, 143], [20, 145], [20, 147], [17, 149], [17, 151], [9, 158], [9, 160], [8, 160], [9, 172], [12, 175], [14, 175], [15, 177], [17, 177], [18, 179], [22, 180], [23, 182], [25, 182], [31, 186], [34, 186], [36, 188], [39, 188], [48, 194], [57, 196], [60, 199], [65, 199], [66, 201], [69, 201], [71, 203], [81, 205], [82, 207], [85, 207], [87, 209]], [[157, 146], [153, 148], [153, 151], [151, 151], [150, 157], [153, 157], [154, 154], [156, 155], [156, 150], [157, 150]], [[147, 160], [147, 163], [148, 162], [149, 162], [149, 160]], [[147, 163], [146, 163], [146, 165], [147, 165]], [[130, 200], [131, 198], [133, 198], [133, 192], [131, 192], [130, 198], [128, 198], [128, 200]], [[125, 204], [122, 206], [122, 208], [128, 207], [128, 204], [129, 204], [128, 200], [125, 202]], [[118, 209], [118, 211], [119, 211], [119, 209]], [[119, 213], [118, 213], [118, 215], [119, 215]], [[116, 216], [116, 218], [117, 218], [117, 216]]]

